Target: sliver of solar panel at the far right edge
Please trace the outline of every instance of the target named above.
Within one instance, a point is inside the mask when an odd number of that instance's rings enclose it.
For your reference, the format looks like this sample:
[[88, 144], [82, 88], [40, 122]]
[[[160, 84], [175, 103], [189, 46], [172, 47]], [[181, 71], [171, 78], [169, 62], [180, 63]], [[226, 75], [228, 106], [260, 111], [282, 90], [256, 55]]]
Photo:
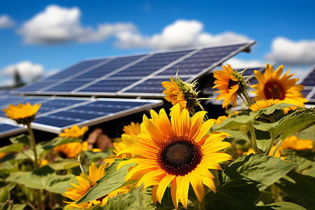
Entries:
[[309, 71], [300, 79], [300, 85], [304, 86], [301, 91], [304, 97], [309, 100], [309, 102], [315, 102], [315, 64], [311, 66]]

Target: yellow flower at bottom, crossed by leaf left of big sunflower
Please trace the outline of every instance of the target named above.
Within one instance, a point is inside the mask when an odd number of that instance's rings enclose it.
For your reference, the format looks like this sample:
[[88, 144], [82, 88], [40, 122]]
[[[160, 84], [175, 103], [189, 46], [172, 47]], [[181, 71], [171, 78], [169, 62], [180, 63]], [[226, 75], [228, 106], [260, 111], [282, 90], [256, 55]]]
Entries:
[[71, 183], [71, 186], [73, 188], [67, 188], [63, 196], [68, 197], [69, 199], [73, 200], [73, 202], [66, 202], [70, 204], [71, 207], [79, 208], [79, 209], [88, 209], [92, 207], [93, 205], [99, 204], [100, 206], [104, 206], [108, 200], [109, 197], [116, 196], [117, 194], [125, 194], [130, 189], [127, 187], [120, 188], [118, 190], [114, 190], [113, 192], [105, 195], [104, 197], [100, 197], [97, 200], [92, 200], [90, 202], [84, 202], [82, 204], [76, 204], [78, 200], [80, 200], [85, 193], [87, 193], [90, 188], [96, 185], [96, 181], [101, 179], [102, 176], [105, 174], [104, 165], [100, 165], [99, 168], [92, 162], [92, 165], [89, 166], [89, 176], [87, 179], [85, 179], [85, 176], [76, 176], [76, 179], [78, 180], [78, 184]]

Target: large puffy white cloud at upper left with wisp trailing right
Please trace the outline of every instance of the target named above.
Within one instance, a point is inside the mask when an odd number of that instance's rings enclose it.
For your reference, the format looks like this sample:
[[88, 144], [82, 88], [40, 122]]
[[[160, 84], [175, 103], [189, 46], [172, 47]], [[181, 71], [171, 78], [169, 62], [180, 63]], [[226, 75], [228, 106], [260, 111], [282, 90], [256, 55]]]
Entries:
[[109, 36], [133, 30], [132, 24], [103, 24], [94, 30], [92, 27], [83, 27], [80, 23], [80, 9], [62, 8], [50, 5], [41, 13], [34, 15], [31, 20], [22, 25], [18, 33], [24, 36], [27, 44], [53, 44], [67, 41], [91, 42], [102, 41]]

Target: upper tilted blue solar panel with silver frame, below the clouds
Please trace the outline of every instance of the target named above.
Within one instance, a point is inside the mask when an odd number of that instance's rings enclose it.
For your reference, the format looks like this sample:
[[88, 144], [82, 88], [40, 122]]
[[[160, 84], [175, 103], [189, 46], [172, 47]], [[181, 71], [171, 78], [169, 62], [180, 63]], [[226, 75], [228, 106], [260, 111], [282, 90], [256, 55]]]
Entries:
[[165, 50], [141, 55], [88, 59], [15, 94], [163, 97], [160, 82], [176, 74], [189, 81], [247, 50], [255, 41]]

